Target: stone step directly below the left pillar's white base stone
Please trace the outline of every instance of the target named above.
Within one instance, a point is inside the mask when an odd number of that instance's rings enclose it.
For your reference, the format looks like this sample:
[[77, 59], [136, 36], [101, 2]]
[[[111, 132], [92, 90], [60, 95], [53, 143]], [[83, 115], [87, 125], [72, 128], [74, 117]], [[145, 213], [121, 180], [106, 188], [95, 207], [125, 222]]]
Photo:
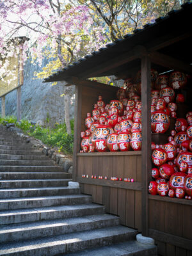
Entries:
[[13, 188], [0, 189], [0, 198], [17, 198], [32, 196], [56, 196], [79, 194], [80, 188], [48, 187], [48, 188]]

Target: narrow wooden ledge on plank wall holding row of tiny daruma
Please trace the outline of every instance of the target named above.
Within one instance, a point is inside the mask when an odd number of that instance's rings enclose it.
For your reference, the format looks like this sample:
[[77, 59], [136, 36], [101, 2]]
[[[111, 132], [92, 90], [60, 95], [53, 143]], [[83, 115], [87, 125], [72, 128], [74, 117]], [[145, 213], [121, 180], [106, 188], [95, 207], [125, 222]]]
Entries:
[[119, 180], [100, 180], [100, 179], [92, 179], [92, 178], [82, 178], [77, 177], [77, 182], [83, 184], [97, 185], [97, 186], [106, 186], [111, 188], [124, 188], [124, 189], [132, 189], [141, 191], [141, 182], [125, 182]]

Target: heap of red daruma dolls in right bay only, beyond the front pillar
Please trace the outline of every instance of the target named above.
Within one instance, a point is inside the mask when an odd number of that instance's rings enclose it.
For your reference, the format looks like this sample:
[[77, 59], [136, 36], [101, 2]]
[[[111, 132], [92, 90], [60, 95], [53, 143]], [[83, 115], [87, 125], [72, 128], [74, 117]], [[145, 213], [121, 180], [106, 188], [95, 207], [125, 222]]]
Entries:
[[148, 186], [151, 195], [189, 200], [192, 196], [192, 111], [186, 116], [177, 116], [177, 103], [185, 100], [184, 95], [177, 92], [186, 83], [185, 74], [172, 72], [170, 77], [159, 76], [159, 90], [152, 90], [151, 93], [152, 132], [168, 131], [170, 117], [176, 118], [175, 129], [171, 131], [168, 143], [155, 145], [152, 142], [152, 162], [155, 167], [152, 168], [154, 180]]

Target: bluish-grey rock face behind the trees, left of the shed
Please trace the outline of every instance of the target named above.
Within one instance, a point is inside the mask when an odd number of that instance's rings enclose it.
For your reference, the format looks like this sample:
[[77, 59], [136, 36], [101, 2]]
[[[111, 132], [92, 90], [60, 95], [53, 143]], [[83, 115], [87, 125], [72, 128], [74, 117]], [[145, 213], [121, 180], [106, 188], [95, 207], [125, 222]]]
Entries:
[[[47, 60], [44, 60], [42, 66], [44, 67], [46, 64]], [[64, 122], [65, 103], [64, 97], [60, 95], [64, 93], [65, 82], [60, 82], [55, 86], [52, 86], [51, 83], [42, 83], [40, 79], [33, 79], [35, 71], [40, 72], [41, 68], [31, 64], [31, 60], [28, 60], [24, 66], [22, 118], [42, 124], [45, 123], [46, 119], [49, 119], [49, 124]], [[16, 115], [16, 90], [6, 95], [6, 115]], [[70, 116], [73, 117], [73, 115], [74, 100], [72, 100], [72, 107], [70, 108]]]

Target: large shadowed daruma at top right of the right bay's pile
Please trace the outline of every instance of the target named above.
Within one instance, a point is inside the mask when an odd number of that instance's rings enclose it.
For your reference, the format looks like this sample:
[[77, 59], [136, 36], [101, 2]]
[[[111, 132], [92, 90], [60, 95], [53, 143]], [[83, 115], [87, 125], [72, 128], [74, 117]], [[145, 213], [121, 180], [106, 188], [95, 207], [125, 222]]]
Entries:
[[187, 77], [184, 73], [179, 71], [173, 71], [170, 74], [170, 86], [174, 90], [179, 90], [180, 88], [184, 87], [187, 83]]

